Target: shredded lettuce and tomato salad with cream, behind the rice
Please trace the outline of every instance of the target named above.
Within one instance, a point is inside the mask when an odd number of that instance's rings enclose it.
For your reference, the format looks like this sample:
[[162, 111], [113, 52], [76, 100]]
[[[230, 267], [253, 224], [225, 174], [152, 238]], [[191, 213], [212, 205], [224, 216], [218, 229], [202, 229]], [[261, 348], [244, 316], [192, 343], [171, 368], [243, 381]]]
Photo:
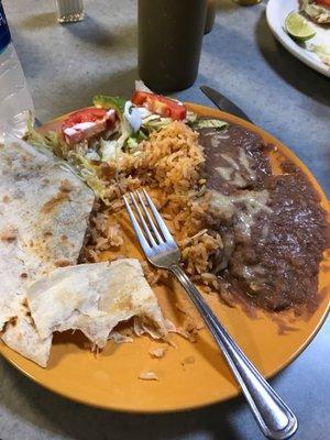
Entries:
[[98, 95], [92, 103], [94, 107], [69, 114], [57, 132], [45, 136], [33, 129], [31, 120], [25, 140], [67, 161], [106, 204], [105, 184], [99, 178], [101, 167], [118, 165], [122, 155], [141, 154], [139, 144], [152, 132], [174, 121], [193, 129], [227, 125], [219, 120], [198, 120], [182, 102], [154, 94], [142, 81], [136, 81], [130, 100]]

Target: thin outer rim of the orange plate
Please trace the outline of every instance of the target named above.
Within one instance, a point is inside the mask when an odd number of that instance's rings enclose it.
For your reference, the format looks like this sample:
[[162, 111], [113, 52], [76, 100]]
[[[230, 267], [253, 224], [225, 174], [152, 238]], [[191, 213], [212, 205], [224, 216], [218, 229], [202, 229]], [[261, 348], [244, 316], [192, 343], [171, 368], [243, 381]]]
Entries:
[[[317, 187], [319, 195], [321, 196], [321, 201], [322, 205], [326, 204], [326, 211], [328, 212], [328, 215], [330, 215], [330, 202], [324, 194], [324, 191], [322, 190], [320, 184], [318, 183], [318, 180], [316, 179], [316, 177], [314, 176], [314, 174], [309, 170], [309, 168], [304, 164], [304, 162], [289, 148], [287, 147], [285, 144], [283, 144], [278, 139], [276, 139], [273, 134], [271, 134], [270, 132], [267, 132], [266, 130], [251, 123], [248, 122], [239, 117], [235, 117], [231, 113], [227, 113], [224, 111], [218, 110], [216, 108], [212, 107], [208, 107], [208, 106], [201, 106], [198, 103], [194, 103], [194, 102], [185, 102], [185, 106], [187, 106], [187, 108], [189, 108], [190, 110], [194, 110], [198, 112], [198, 109], [200, 109], [200, 111], [210, 111], [211, 113], [213, 113], [213, 116], [218, 116], [219, 118], [223, 118], [223, 119], [228, 119], [229, 121], [239, 123], [242, 127], [245, 127], [248, 129], [250, 129], [253, 132], [256, 132], [258, 134], [261, 134], [262, 136], [267, 136], [271, 142], [274, 142], [277, 145], [280, 146], [280, 148], [285, 152], [285, 154], [289, 157], [289, 158], [295, 158], [296, 163], [298, 164], [298, 166], [300, 168], [302, 168], [304, 173], [308, 175], [308, 178], [312, 180], [312, 184], [315, 187]], [[82, 109], [80, 109], [82, 110]], [[77, 111], [77, 110], [73, 110], [72, 112]], [[63, 118], [65, 118], [66, 116], [70, 114], [66, 113], [59, 117], [56, 117], [52, 120], [50, 120], [48, 122], [44, 123], [42, 127], [47, 125], [50, 123], [53, 123], [54, 121], [61, 120]], [[327, 289], [326, 295], [328, 296], [330, 294], [330, 289]], [[330, 298], [329, 298], [330, 299]], [[317, 333], [320, 331], [321, 327], [323, 326], [323, 323], [327, 320], [327, 317], [330, 312], [330, 300], [328, 301], [328, 304], [324, 307], [324, 310], [322, 311], [322, 315], [319, 319], [319, 321], [317, 322], [317, 326], [312, 329], [312, 331], [309, 333], [308, 338], [306, 338], [306, 340], [304, 341], [302, 344], [300, 344], [297, 350], [295, 350], [293, 352], [293, 354], [287, 358], [287, 360], [285, 362], [283, 362], [280, 365], [278, 365], [278, 367], [274, 369], [272, 372], [270, 372], [268, 374], [265, 374], [264, 377], [270, 380], [272, 377], [275, 377], [279, 372], [284, 371], [287, 366], [289, 366], [307, 348], [308, 345], [312, 342], [312, 340], [315, 339], [315, 337], [317, 336]], [[15, 362], [14, 359], [12, 359], [11, 356], [8, 356], [3, 353], [2, 351], [2, 346], [6, 345], [2, 341], [0, 341], [0, 354], [1, 356], [12, 366], [15, 367], [15, 370], [18, 370], [20, 373], [22, 373], [24, 376], [26, 376], [28, 378], [32, 380], [34, 383], [36, 383], [37, 385], [42, 386], [43, 388], [47, 389], [48, 392], [52, 392], [58, 396], [61, 396], [62, 398], [66, 398], [70, 402], [77, 402], [79, 404], [82, 405], [87, 405], [94, 408], [99, 408], [99, 409], [105, 409], [105, 410], [113, 410], [113, 411], [118, 411], [118, 413], [125, 413], [125, 414], [170, 414], [170, 413], [184, 413], [184, 411], [188, 411], [188, 410], [198, 410], [201, 408], [206, 408], [212, 405], [217, 405], [227, 400], [231, 400], [233, 398], [235, 398], [237, 396], [241, 395], [242, 392], [239, 388], [235, 388], [230, 395], [219, 399], [219, 398], [212, 398], [207, 403], [200, 403], [200, 404], [193, 404], [193, 405], [186, 405], [186, 406], [182, 406], [182, 407], [173, 407], [173, 408], [153, 408], [153, 409], [134, 409], [134, 408], [123, 408], [123, 407], [119, 407], [119, 406], [106, 406], [102, 404], [97, 404], [95, 402], [90, 402], [88, 398], [84, 399], [80, 397], [74, 397], [72, 395], [65, 394], [63, 393], [63, 391], [58, 391], [54, 387], [52, 387], [50, 384], [45, 384], [42, 380], [40, 380], [38, 377], [35, 377], [34, 375], [30, 374], [29, 371], [24, 370], [18, 362]], [[10, 352], [15, 353], [13, 350], [7, 348], [6, 349], [10, 350]], [[15, 355], [19, 355], [18, 353], [15, 353]], [[23, 358], [21, 355], [19, 355], [20, 358]], [[25, 359], [24, 359], [25, 360]]]

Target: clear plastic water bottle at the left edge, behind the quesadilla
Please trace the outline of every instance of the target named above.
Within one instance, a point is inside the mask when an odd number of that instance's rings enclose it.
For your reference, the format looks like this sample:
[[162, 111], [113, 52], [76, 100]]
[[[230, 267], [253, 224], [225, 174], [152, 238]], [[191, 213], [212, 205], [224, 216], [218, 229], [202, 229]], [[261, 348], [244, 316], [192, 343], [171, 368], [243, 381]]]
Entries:
[[11, 42], [0, 0], [0, 142], [3, 142], [6, 131], [22, 135], [26, 128], [28, 112], [33, 110], [32, 98]]

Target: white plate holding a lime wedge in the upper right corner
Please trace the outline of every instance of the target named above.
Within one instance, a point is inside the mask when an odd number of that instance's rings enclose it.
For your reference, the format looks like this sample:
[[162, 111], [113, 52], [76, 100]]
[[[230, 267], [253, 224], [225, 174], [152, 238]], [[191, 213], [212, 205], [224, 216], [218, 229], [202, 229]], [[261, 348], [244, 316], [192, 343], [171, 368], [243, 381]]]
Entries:
[[287, 14], [292, 11], [298, 11], [298, 0], [270, 0], [266, 9], [268, 26], [279, 43], [293, 55], [315, 70], [330, 77], [330, 67], [323, 64], [314, 52], [308, 51], [310, 44], [324, 44], [326, 42], [330, 44], [330, 28], [318, 25], [310, 21], [311, 25], [317, 31], [317, 35], [301, 44], [297, 44], [285, 31], [284, 23]]

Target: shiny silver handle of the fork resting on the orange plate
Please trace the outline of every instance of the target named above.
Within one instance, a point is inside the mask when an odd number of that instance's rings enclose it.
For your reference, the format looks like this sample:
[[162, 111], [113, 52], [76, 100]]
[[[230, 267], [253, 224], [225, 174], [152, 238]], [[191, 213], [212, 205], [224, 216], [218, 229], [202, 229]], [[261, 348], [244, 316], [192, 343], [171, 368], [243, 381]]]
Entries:
[[264, 436], [274, 440], [288, 439], [298, 428], [295, 415], [238, 346], [182, 267], [173, 265], [169, 270], [202, 316]]

